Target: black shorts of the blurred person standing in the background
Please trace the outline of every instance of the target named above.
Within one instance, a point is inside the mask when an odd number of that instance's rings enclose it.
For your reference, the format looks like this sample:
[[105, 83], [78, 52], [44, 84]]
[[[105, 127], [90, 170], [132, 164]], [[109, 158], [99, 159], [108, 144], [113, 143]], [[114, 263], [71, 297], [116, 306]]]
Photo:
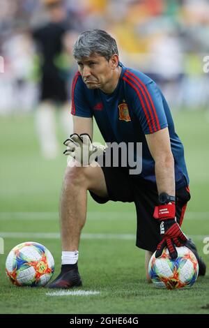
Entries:
[[59, 75], [52, 77], [43, 75], [40, 83], [40, 100], [52, 100], [66, 103], [68, 101], [67, 83]]

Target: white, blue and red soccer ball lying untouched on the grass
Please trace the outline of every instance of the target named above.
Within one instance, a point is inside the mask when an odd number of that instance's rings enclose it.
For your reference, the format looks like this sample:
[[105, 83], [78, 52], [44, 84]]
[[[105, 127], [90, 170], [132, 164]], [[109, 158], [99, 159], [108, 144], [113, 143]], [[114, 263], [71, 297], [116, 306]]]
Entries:
[[17, 286], [44, 286], [54, 273], [49, 250], [33, 241], [15, 246], [6, 259], [6, 275]]

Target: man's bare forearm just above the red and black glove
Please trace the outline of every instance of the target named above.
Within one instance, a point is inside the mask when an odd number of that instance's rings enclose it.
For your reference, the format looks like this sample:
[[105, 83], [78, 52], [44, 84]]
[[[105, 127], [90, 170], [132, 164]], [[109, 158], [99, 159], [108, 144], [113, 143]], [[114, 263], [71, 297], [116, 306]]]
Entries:
[[175, 173], [173, 156], [167, 158], [157, 158], [155, 161], [155, 175], [157, 191], [175, 195]]

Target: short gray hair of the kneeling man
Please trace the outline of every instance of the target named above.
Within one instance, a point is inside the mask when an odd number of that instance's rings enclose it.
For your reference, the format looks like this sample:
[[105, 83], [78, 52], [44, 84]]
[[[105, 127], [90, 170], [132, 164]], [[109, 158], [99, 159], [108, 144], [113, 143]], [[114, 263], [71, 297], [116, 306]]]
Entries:
[[90, 57], [92, 54], [99, 54], [109, 61], [113, 54], [118, 54], [118, 47], [116, 40], [107, 32], [101, 29], [92, 29], [79, 35], [72, 53], [77, 60]]

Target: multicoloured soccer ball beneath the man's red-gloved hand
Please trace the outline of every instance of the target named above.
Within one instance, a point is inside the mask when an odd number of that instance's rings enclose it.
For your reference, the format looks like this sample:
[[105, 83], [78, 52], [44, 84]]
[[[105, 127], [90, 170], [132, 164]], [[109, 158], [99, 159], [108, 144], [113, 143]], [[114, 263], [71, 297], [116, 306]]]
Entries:
[[155, 253], [150, 258], [148, 273], [157, 288], [192, 287], [199, 273], [199, 264], [189, 248], [176, 247], [178, 258], [172, 260], [169, 250], [164, 248], [160, 258], [155, 258]]

